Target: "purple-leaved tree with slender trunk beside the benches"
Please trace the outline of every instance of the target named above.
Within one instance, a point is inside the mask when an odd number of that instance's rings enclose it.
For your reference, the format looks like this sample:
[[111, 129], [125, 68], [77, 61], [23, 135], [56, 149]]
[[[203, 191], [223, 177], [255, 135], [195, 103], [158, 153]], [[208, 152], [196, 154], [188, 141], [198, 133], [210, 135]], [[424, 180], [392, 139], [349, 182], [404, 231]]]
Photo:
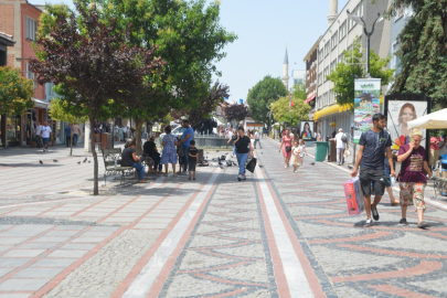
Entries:
[[[156, 47], [150, 50], [129, 46], [127, 41], [131, 25], [126, 31], [116, 28], [116, 19], [105, 24], [99, 20], [96, 6], [85, 10], [76, 8], [82, 22], [76, 22], [74, 12], [60, 14], [50, 34], [38, 36], [40, 58], [30, 64], [40, 84], [64, 84], [74, 96], [70, 104], [88, 109], [92, 128], [102, 107], [128, 103], [127, 95], [143, 84], [143, 77], [161, 70], [164, 64], [156, 58]], [[135, 99], [135, 98], [132, 98]], [[135, 104], [135, 103], [132, 103]], [[91, 130], [91, 139], [94, 129]], [[92, 142], [94, 157], [94, 194], [98, 194], [98, 160]]]

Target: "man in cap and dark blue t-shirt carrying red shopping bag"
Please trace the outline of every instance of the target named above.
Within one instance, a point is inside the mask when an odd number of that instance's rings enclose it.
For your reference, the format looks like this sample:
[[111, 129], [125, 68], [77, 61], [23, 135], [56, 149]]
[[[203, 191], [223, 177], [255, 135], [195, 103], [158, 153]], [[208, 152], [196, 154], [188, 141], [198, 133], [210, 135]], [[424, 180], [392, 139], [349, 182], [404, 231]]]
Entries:
[[[396, 177], [393, 166], [393, 155], [391, 152], [391, 137], [384, 130], [386, 120], [385, 115], [375, 114], [373, 116], [373, 128], [363, 131], [360, 136], [359, 153], [356, 155], [356, 162], [351, 177], [358, 175], [360, 166], [360, 187], [364, 195], [364, 206], [368, 220], [364, 226], [372, 226], [373, 221], [379, 221], [377, 204], [385, 193], [385, 177], [383, 173], [384, 159], [383, 156], [386, 150], [386, 158], [389, 159], [391, 175]], [[371, 189], [374, 189], [374, 202], [371, 204]]]

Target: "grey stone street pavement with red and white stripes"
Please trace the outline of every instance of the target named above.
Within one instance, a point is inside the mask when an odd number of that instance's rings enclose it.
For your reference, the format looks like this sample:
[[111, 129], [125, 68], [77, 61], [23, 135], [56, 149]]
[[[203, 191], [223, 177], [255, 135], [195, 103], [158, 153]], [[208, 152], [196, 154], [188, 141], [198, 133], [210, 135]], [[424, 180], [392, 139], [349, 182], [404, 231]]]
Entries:
[[345, 167], [311, 166], [308, 148], [294, 173], [277, 141], [262, 145], [246, 181], [210, 162], [196, 181], [109, 178], [98, 196], [81, 148], [0, 150], [0, 297], [447, 297], [447, 198], [422, 231], [385, 195], [364, 228]]

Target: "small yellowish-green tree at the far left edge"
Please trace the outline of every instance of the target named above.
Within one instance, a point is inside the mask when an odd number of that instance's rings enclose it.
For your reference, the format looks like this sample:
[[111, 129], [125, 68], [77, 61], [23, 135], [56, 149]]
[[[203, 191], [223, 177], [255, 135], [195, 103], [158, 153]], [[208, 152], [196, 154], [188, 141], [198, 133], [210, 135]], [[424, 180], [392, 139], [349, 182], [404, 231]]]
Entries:
[[33, 81], [20, 75], [19, 68], [0, 66], [0, 115], [22, 115], [34, 107]]

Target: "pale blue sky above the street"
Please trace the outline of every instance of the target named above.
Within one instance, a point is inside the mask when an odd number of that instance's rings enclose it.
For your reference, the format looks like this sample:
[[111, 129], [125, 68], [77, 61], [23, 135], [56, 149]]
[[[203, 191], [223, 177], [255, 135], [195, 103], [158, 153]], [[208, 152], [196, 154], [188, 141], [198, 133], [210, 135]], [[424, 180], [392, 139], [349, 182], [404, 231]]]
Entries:
[[[71, 0], [46, 2], [73, 6]], [[339, 11], [347, 2], [338, 1]], [[238, 35], [224, 49], [226, 57], [216, 63], [222, 76], [215, 79], [230, 86], [230, 102], [245, 100], [248, 89], [266, 75], [280, 77], [286, 45], [289, 76], [292, 70], [305, 70], [302, 60], [328, 29], [328, 13], [329, 0], [221, 0], [221, 24]]]

